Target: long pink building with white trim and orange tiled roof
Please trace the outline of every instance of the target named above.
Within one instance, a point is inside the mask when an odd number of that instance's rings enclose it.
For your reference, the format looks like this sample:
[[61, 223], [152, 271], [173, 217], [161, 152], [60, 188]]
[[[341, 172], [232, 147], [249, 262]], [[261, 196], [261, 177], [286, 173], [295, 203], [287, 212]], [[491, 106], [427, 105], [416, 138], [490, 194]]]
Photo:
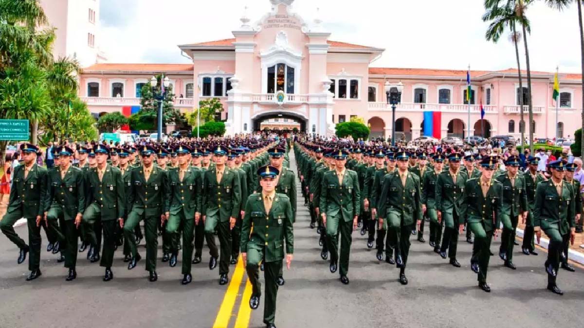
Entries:
[[[383, 49], [332, 41], [319, 19], [305, 22], [291, 11], [293, 0], [270, 2], [272, 12], [254, 24], [244, 16], [231, 39], [179, 45], [192, 64], [91, 65], [81, 76], [80, 96], [95, 114], [121, 112], [123, 106], [138, 106], [140, 88], [152, 75], [164, 72], [182, 111], [192, 111], [201, 99], [218, 97], [228, 134], [259, 130], [263, 121], [287, 118], [300, 123], [303, 131], [331, 135], [336, 123], [358, 116], [370, 125], [372, 137], [387, 138], [392, 113], [384, 85], [401, 81], [398, 136], [424, 135], [424, 113], [433, 111], [440, 113], [440, 137], [465, 137], [469, 107], [471, 135], [520, 135], [519, 96], [524, 103], [527, 97], [519, 90], [516, 69], [471, 71], [469, 106], [466, 71], [370, 67]], [[531, 72], [531, 77], [534, 121], [526, 133], [533, 128], [537, 137], [554, 137], [554, 74]], [[580, 125], [580, 79], [579, 74], [559, 75], [560, 137], [573, 137]], [[527, 106], [523, 110], [527, 122]]]

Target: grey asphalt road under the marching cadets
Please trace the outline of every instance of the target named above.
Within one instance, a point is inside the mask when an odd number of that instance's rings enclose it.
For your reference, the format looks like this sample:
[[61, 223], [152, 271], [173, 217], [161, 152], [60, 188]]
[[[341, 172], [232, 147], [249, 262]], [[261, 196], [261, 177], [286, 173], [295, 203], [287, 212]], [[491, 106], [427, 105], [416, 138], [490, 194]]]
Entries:
[[[286, 285], [278, 295], [278, 327], [578, 327], [584, 323], [580, 312], [584, 268], [559, 272], [558, 285], [565, 295], [558, 296], [545, 289], [545, 252], [540, 249], [539, 256], [524, 256], [516, 247], [516, 271], [503, 267], [497, 256], [491, 257], [492, 292], [487, 294], [477, 287], [477, 275], [469, 263], [472, 245], [462, 235], [458, 244], [461, 268], [450, 266], [427, 242], [419, 243], [412, 236], [406, 269], [409, 284], [402, 286], [397, 280], [399, 270], [377, 261], [375, 251], [367, 249], [366, 238], [354, 232], [350, 284], [343, 285], [338, 273], [329, 272], [328, 261], [320, 258], [318, 235], [308, 228], [310, 216], [303, 198], [298, 200], [296, 253], [291, 270], [284, 268]], [[25, 226], [17, 232], [26, 239]], [[498, 247], [495, 241], [491, 249], [496, 253]], [[144, 256], [144, 247], [139, 250]], [[103, 269], [85, 260], [84, 253], [78, 261], [77, 280], [66, 282], [67, 269], [56, 263], [55, 255], [43, 252], [43, 276], [26, 282], [26, 264], [16, 264], [18, 250], [0, 236], [0, 328], [220, 327], [218, 322], [227, 322], [229, 327], [263, 327], [263, 298], [260, 308], [249, 319], [246, 316], [245, 274], [241, 282], [220, 286], [217, 269], [208, 270], [207, 248], [203, 254], [203, 263], [193, 266], [193, 282], [186, 287], [180, 285], [180, 255], [175, 268], [159, 261], [159, 280], [152, 283], [144, 261], [134, 270], [126, 269], [121, 250], [116, 252], [113, 281], [103, 282]], [[230, 278], [234, 271], [232, 266]], [[231, 292], [226, 293], [228, 288]]]

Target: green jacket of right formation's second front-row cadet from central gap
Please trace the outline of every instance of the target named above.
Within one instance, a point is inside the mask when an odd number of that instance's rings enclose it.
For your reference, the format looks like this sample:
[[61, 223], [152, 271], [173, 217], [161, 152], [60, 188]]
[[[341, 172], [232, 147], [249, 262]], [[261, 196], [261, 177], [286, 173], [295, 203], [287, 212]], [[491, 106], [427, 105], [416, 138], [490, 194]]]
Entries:
[[413, 225], [422, 219], [420, 179], [411, 172], [406, 172], [406, 175], [405, 186], [402, 185], [398, 171], [385, 175], [377, 201], [378, 217], [387, 218], [391, 213], [399, 214], [404, 226]]

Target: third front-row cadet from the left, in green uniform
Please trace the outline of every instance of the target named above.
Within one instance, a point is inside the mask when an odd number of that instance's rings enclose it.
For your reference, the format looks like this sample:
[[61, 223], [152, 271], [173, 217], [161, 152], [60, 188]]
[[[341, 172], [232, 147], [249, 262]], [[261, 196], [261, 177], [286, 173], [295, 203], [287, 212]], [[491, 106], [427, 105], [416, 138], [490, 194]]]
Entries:
[[[96, 145], [95, 159], [97, 168], [89, 169], [86, 177], [86, 200], [88, 206], [85, 208], [82, 224], [89, 236], [89, 242], [99, 254], [99, 246], [93, 227], [95, 221], [101, 221], [103, 229], [103, 251], [99, 266], [105, 267], [103, 281], [113, 279], [112, 263], [113, 254], [116, 247], [116, 225], [123, 226], [124, 215], [126, 215], [126, 194], [124, 193], [124, 183], [120, 169], [107, 164], [107, 146]], [[116, 152], [117, 153], [117, 152]]]

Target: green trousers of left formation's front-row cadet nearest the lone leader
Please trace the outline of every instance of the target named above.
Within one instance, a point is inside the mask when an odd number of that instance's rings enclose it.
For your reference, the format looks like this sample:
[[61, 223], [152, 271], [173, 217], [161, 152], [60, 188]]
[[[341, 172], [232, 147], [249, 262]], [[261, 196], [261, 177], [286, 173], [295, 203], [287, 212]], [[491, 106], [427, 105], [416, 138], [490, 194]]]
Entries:
[[[205, 220], [205, 239], [207, 239], [207, 246], [209, 246], [211, 256], [219, 257], [219, 274], [229, 273], [229, 262], [231, 260], [231, 231], [229, 226], [229, 221], [220, 222], [219, 217], [216, 215], [207, 217]], [[221, 244], [221, 254], [215, 243], [215, 228], [217, 228], [217, 235]]]

